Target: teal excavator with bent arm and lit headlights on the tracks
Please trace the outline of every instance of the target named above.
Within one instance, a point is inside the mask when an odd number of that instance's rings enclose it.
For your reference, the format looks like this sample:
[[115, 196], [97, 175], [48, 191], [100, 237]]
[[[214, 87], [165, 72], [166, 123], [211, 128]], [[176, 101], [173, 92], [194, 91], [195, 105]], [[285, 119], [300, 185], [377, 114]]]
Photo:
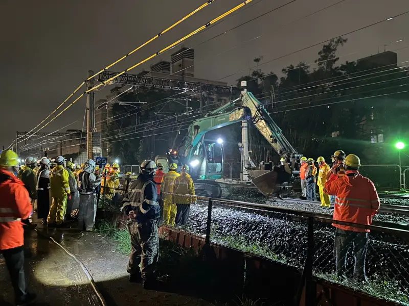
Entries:
[[[288, 194], [292, 188], [290, 177], [298, 173], [296, 165], [302, 155], [284, 137], [263, 104], [246, 90], [246, 82], [243, 81], [241, 85], [243, 90], [239, 98], [209, 112], [189, 126], [184, 152], [180, 154], [179, 151], [175, 158], [190, 165], [190, 175], [198, 195], [227, 198], [232, 193], [232, 187], [237, 186], [255, 186], [264, 196]], [[240, 180], [224, 179], [223, 140], [207, 139], [206, 135], [210, 131], [239, 122], [242, 127], [242, 140], [238, 143], [241, 177]], [[248, 124], [256, 126], [271, 147], [286, 161], [280, 169], [267, 169], [264, 163], [260, 167], [255, 166], [249, 157]], [[280, 170], [288, 175], [280, 175]]]

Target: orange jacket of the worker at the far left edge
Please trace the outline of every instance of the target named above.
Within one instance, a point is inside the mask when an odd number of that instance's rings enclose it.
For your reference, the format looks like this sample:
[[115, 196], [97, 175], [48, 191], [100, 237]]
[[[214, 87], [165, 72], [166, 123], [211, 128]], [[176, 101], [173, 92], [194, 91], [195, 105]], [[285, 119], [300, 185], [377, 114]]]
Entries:
[[31, 215], [32, 204], [24, 183], [4, 169], [0, 169], [0, 199], [0, 250], [21, 246], [21, 219]]

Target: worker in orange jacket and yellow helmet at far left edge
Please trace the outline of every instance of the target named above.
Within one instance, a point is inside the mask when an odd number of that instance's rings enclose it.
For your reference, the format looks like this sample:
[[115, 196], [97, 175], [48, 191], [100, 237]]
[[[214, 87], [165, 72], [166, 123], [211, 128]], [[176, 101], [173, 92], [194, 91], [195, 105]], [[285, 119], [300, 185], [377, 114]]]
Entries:
[[13, 174], [16, 168], [17, 154], [12, 150], [4, 150], [0, 156], [0, 253], [10, 273], [15, 303], [25, 305], [35, 299], [35, 294], [27, 291], [25, 281], [24, 230], [21, 220], [28, 219], [33, 207], [24, 183]]

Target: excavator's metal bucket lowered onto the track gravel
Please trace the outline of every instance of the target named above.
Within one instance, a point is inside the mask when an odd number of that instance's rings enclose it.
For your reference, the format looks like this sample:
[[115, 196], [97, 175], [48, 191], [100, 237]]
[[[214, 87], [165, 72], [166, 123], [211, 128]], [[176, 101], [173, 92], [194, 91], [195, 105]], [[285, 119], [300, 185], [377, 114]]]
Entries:
[[252, 177], [254, 186], [264, 196], [287, 195], [291, 190], [292, 186], [289, 186], [288, 183], [280, 184], [277, 182], [278, 174], [276, 171], [252, 170], [249, 174]]

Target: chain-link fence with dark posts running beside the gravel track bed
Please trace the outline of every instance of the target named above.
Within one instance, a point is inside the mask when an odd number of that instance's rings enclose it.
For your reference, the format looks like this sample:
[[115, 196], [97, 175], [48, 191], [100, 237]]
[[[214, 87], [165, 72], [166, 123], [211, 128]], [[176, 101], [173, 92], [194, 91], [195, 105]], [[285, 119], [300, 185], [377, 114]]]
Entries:
[[[120, 212], [122, 194], [132, 181], [124, 181], [119, 188], [102, 188], [100, 209]], [[119, 197], [108, 199], [108, 190]], [[305, 286], [306, 304], [315, 305], [312, 280], [324, 279], [409, 305], [408, 231], [255, 203], [173, 193], [162, 196], [168, 226], [203, 237], [205, 245], [224, 245], [302, 271], [295, 304]], [[333, 224], [353, 231], [342, 231]]]

